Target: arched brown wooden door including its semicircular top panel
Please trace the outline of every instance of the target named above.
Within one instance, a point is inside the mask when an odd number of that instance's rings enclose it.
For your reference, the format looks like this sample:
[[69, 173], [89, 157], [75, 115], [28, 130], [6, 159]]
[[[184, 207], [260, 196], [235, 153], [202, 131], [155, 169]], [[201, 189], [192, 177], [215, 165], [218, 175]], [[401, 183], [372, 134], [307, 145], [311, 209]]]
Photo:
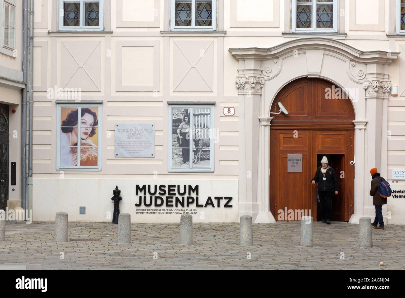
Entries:
[[[270, 126], [273, 216], [276, 220], [300, 220], [300, 214], [311, 212], [317, 220], [317, 190], [311, 179], [320, 158], [326, 155], [340, 186], [339, 195], [332, 200], [332, 220], [348, 221], [354, 213], [354, 166], [350, 165], [354, 158], [354, 109], [349, 97], [329, 81], [302, 78], [277, 94], [272, 112], [279, 111], [278, 102], [289, 114], [275, 115]], [[289, 172], [288, 154], [301, 154], [301, 172]], [[291, 212], [294, 217], [289, 216]]]

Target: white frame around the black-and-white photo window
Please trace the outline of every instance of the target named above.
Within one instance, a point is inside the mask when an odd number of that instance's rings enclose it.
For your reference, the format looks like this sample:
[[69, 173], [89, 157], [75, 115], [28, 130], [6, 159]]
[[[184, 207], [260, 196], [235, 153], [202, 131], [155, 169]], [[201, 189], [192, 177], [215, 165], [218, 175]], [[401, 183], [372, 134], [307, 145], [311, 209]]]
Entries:
[[[189, 168], [172, 168], [172, 149], [173, 149], [173, 144], [172, 144], [172, 134], [173, 134], [173, 128], [172, 128], [172, 118], [173, 118], [173, 113], [172, 109], [190, 109], [190, 159], [189, 159]], [[191, 111], [192, 109], [211, 109], [211, 129], [210, 129], [210, 167], [194, 167], [192, 168], [192, 163], [193, 163], [193, 137], [192, 137], [192, 128], [194, 126], [193, 123], [193, 117], [191, 116]], [[168, 172], [190, 172], [190, 173], [201, 173], [201, 172], [209, 172], [213, 173], [214, 172], [214, 165], [215, 165], [215, 155], [214, 155], [214, 136], [215, 136], [215, 105], [169, 105], [169, 117], [168, 117]]]

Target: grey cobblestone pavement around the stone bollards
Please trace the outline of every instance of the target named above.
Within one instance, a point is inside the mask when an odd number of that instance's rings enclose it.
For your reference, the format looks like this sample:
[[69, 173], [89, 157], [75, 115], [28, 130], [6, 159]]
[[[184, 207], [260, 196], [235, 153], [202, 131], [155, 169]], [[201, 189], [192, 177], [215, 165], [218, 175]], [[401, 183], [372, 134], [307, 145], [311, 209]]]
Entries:
[[[69, 223], [69, 239], [97, 241], [55, 243], [54, 223], [7, 222], [0, 264], [40, 264], [43, 270], [405, 268], [404, 225], [373, 229], [374, 247], [369, 249], [358, 247], [358, 225], [338, 222], [315, 222], [311, 248], [299, 246], [299, 222], [254, 225], [253, 247], [239, 246], [238, 223], [194, 223], [194, 244], [189, 246], [177, 244], [176, 223], [134, 223], [131, 228], [132, 244], [117, 244], [117, 225]], [[60, 259], [61, 252], [64, 259]]]

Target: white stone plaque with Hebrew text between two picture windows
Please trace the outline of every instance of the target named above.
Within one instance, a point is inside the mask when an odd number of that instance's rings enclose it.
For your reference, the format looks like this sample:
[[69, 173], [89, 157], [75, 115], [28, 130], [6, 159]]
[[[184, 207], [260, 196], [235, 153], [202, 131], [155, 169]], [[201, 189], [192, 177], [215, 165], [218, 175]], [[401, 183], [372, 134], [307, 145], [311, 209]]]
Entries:
[[115, 157], [155, 157], [155, 124], [115, 124]]

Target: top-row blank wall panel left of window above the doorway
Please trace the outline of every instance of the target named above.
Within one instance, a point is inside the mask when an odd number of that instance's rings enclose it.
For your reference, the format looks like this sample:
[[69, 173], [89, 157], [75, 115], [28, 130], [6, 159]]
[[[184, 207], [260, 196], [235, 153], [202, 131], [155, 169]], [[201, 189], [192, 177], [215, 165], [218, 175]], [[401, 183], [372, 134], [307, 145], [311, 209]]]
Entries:
[[230, 0], [230, 27], [278, 28], [280, 0]]

